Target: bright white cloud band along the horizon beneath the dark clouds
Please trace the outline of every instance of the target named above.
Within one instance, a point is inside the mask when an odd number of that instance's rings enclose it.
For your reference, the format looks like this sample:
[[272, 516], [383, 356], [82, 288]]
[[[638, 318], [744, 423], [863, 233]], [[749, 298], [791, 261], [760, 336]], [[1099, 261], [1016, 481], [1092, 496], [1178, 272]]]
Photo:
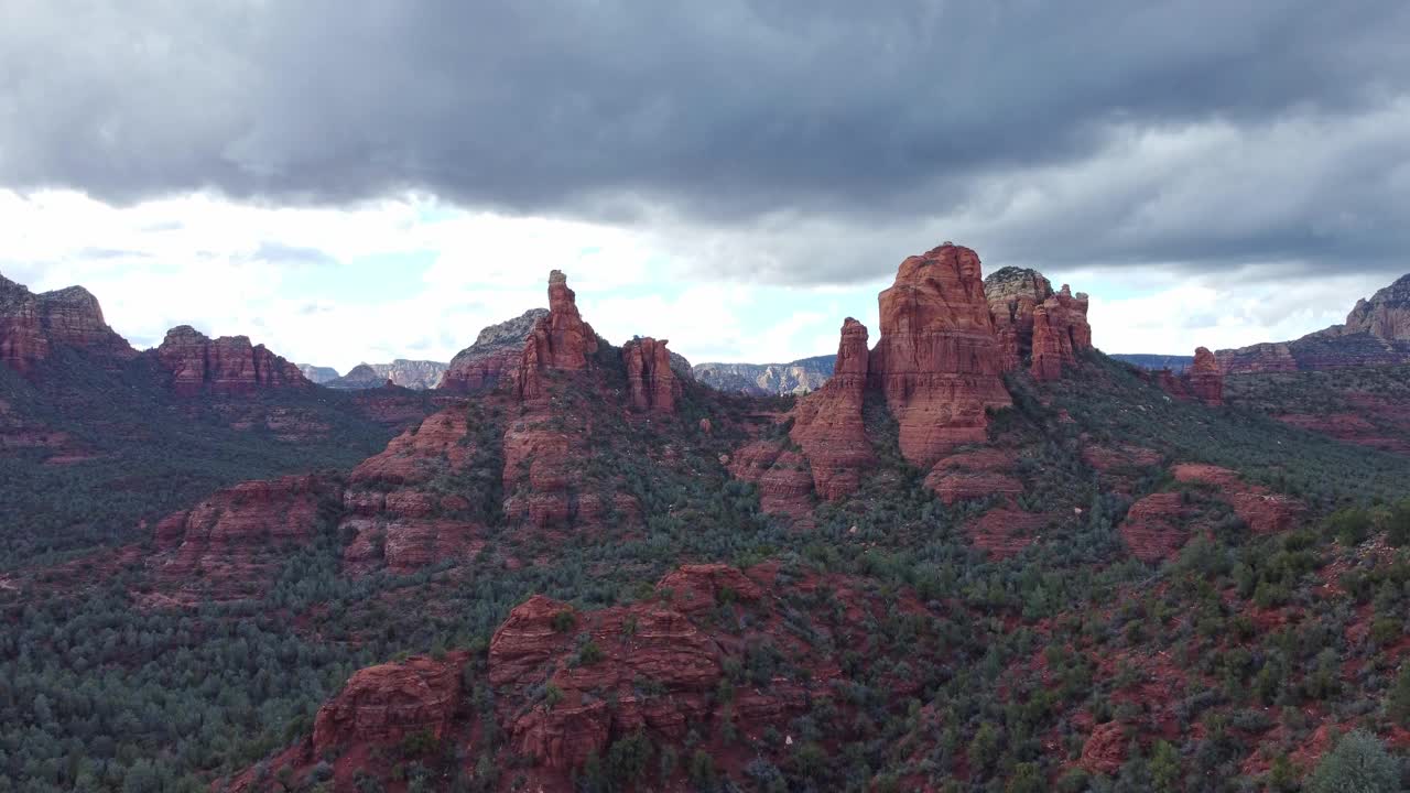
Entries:
[[[1211, 137], [1220, 140], [1217, 130]], [[1141, 145], [1193, 147], [1190, 154], [1210, 141], [1179, 143]], [[1007, 212], [1025, 212], [1019, 205]], [[0, 226], [16, 230], [0, 238], [0, 271], [35, 289], [87, 286], [109, 323], [138, 346], [190, 323], [345, 371], [393, 357], [448, 360], [485, 325], [544, 305], [547, 271], [564, 270], [584, 316], [615, 343], [650, 334], [697, 361], [763, 363], [833, 351], [849, 315], [874, 340], [876, 293], [907, 253], [938, 241], [914, 250], [897, 243], [860, 285], [766, 285], [801, 251], [825, 243], [852, 255], [876, 243], [795, 220], [792, 234], [780, 216], [754, 236], [670, 222], [642, 230], [506, 217], [416, 195], [350, 209], [275, 209], [210, 195], [113, 207], [75, 192], [0, 190]], [[753, 278], [740, 275], [744, 261], [753, 262]], [[1008, 262], [987, 267], [1001, 264]], [[1193, 277], [1182, 275], [1187, 265], [1094, 267], [1050, 275], [1091, 293], [1098, 346], [1149, 353], [1297, 337], [1341, 322], [1358, 298], [1383, 285], [1380, 277], [1335, 268], [1279, 278], [1297, 267]]]

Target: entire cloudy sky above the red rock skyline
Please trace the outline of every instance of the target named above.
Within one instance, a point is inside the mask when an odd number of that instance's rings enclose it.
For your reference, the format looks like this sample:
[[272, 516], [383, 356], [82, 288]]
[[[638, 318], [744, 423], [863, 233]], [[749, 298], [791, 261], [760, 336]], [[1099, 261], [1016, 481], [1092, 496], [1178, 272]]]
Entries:
[[1410, 271], [1410, 4], [0, 0], [0, 274], [345, 371], [563, 270], [613, 341], [787, 361], [909, 254], [1091, 295], [1111, 353]]

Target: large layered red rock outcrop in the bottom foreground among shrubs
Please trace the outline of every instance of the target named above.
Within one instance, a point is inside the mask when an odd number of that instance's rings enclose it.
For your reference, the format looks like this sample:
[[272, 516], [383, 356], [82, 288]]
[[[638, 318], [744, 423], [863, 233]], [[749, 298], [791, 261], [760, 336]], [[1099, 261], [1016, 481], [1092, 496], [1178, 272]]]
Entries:
[[[513, 762], [522, 772], [516, 773], [519, 787], [567, 793], [575, 789], [582, 763], [608, 756], [615, 741], [643, 734], [661, 751], [682, 752], [694, 731], [702, 741], [699, 748], [719, 763], [721, 776], [742, 780], [756, 751], [732, 746], [747, 742], [781, 762], [790, 752], [787, 744], [768, 748], [764, 732], [774, 728], [787, 734], [790, 720], [807, 713], [814, 697], [835, 698], [835, 683], [846, 677], [842, 650], [862, 646], [866, 625], [897, 610], [928, 614], [914, 593], [883, 598], [843, 576], [790, 576], [787, 584], [781, 581], [777, 564], [749, 576], [702, 564], [666, 576], [654, 598], [627, 607], [577, 611], [533, 597], [510, 612], [489, 643], [482, 679], [494, 689], [492, 711], [471, 707], [462, 689], [454, 693], [468, 656], [372, 667], [355, 674], [320, 710], [312, 741], [286, 751], [269, 768], [286, 763], [293, 780], [302, 783], [326, 761], [333, 768], [333, 789], [351, 790], [360, 772], [388, 780], [393, 763], [405, 756], [403, 739], [427, 734], [462, 756], [492, 752], [489, 758], [501, 768]], [[829, 641], [790, 638], [784, 622], [797, 612], [794, 605], [780, 610], [785, 597], [776, 588], [780, 586], [802, 595], [788, 598], [790, 604], [815, 603], [804, 608]], [[750, 625], [749, 632], [725, 628], [726, 611]], [[770, 652], [781, 653], [784, 667], [797, 672], [746, 684], [736, 676], [726, 684], [726, 669], [746, 669], [747, 653], [760, 639], [773, 648]], [[876, 660], [894, 666], [900, 659], [893, 652]], [[881, 683], [901, 697], [921, 690], [914, 676], [887, 674]], [[498, 751], [484, 742], [485, 720], [509, 738]], [[506, 785], [509, 779], [502, 779], [501, 787]], [[684, 769], [660, 785], [670, 790], [684, 786]], [[257, 772], [238, 776], [233, 790], [262, 790]]]

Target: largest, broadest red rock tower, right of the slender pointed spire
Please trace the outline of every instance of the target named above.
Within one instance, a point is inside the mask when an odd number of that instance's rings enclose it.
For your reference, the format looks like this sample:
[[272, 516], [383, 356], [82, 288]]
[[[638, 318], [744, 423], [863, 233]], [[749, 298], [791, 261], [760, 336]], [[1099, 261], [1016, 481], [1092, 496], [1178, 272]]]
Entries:
[[869, 381], [901, 426], [907, 460], [929, 467], [956, 444], [986, 440], [984, 411], [1012, 404], [1003, 363], [974, 251], [946, 244], [901, 262], [881, 292]]

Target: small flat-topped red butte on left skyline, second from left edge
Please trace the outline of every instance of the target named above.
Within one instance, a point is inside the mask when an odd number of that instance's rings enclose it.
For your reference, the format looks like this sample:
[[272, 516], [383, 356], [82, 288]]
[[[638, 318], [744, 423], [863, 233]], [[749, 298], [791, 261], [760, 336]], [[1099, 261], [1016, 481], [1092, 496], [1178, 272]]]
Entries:
[[313, 385], [298, 365], [264, 344], [252, 346], [247, 336], [210, 339], [189, 325], [166, 332], [157, 358], [171, 373], [172, 388], [183, 395], [202, 391], [248, 395], [266, 388]]

